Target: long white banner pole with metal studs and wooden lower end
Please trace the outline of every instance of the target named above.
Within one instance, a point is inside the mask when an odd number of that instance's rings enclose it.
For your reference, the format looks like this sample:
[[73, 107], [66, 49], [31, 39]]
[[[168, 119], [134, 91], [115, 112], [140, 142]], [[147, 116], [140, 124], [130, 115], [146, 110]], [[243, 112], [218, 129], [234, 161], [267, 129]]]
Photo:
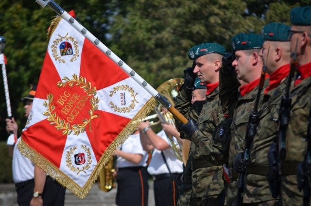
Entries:
[[167, 108], [179, 121], [187, 123], [188, 120], [178, 112], [171, 103], [169, 103], [162, 95], [160, 95], [155, 88], [150, 86], [138, 73], [131, 69], [126, 63], [124, 63], [115, 53], [109, 50], [100, 40], [98, 40], [93, 34], [91, 34], [86, 28], [82, 26], [76, 19], [71, 17], [64, 9], [62, 9], [53, 0], [36, 0], [42, 7], [48, 5], [59, 16], [66, 20], [73, 28], [84, 35], [90, 42], [92, 42], [99, 50], [104, 52], [113, 62], [118, 64], [123, 71], [125, 71], [130, 77], [132, 77], [140, 86], [147, 90], [159, 103]]

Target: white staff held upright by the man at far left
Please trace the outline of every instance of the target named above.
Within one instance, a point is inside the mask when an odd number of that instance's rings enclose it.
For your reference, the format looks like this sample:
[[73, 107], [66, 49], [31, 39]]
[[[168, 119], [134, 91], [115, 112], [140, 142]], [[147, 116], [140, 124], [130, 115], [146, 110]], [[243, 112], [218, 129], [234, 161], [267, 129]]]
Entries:
[[[2, 77], [3, 77], [6, 110], [7, 110], [8, 118], [12, 118], [9, 87], [8, 87], [8, 80], [7, 80], [7, 76], [6, 76], [5, 61], [4, 61], [4, 54], [3, 54], [4, 47], [5, 47], [5, 39], [3, 36], [0, 36], [0, 64], [1, 64], [1, 68], [2, 68]], [[14, 143], [15, 143], [14, 134], [11, 133], [10, 136], [8, 137], [7, 144], [8, 145], [14, 145]]]

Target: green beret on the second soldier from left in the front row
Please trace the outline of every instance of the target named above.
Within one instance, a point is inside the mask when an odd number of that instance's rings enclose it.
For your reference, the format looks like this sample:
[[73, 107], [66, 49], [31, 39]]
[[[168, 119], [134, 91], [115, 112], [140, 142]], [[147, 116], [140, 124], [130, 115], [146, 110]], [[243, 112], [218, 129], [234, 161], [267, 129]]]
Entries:
[[259, 34], [236, 34], [231, 39], [231, 45], [234, 51], [251, 50], [262, 48], [263, 38]]

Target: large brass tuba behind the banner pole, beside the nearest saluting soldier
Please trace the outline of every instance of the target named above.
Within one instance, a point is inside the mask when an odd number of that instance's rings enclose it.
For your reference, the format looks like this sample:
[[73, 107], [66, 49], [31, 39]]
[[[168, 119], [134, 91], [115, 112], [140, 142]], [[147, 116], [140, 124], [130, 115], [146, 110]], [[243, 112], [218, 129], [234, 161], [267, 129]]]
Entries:
[[[183, 84], [184, 84], [183, 78], [174, 78], [162, 83], [160, 86], [156, 88], [156, 91], [159, 92], [159, 94], [161, 94], [163, 97], [165, 97], [172, 105], [174, 105], [174, 98], [178, 95], [180, 87]], [[161, 108], [162, 108], [161, 104], [159, 104], [158, 107], [155, 108], [158, 118], [164, 119], [162, 120], [162, 122], [165, 121], [166, 123], [173, 124], [173, 126], [175, 126], [175, 120], [172, 113], [169, 111], [161, 113], [160, 112]], [[172, 145], [172, 149], [175, 156], [180, 161], [183, 161], [181, 143], [176, 138], [173, 138], [171, 135], [169, 134], [166, 135]]]

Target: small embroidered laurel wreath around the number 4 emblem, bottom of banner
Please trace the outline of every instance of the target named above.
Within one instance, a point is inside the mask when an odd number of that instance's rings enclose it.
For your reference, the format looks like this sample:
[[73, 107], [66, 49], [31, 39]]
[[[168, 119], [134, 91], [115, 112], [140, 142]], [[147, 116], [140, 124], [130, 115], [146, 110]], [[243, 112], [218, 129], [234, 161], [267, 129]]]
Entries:
[[86, 173], [85, 170], [88, 170], [91, 167], [91, 163], [92, 163], [91, 150], [87, 148], [86, 145], [81, 145], [81, 148], [84, 149], [84, 151], [87, 154], [87, 164], [86, 166], [83, 166], [82, 169], [78, 167], [74, 167], [71, 161], [71, 157], [74, 151], [77, 149], [77, 146], [70, 147], [69, 151], [67, 151], [67, 154], [66, 154], [66, 162], [67, 162], [66, 166], [70, 169], [70, 171], [77, 172], [77, 175], [82, 171]]

